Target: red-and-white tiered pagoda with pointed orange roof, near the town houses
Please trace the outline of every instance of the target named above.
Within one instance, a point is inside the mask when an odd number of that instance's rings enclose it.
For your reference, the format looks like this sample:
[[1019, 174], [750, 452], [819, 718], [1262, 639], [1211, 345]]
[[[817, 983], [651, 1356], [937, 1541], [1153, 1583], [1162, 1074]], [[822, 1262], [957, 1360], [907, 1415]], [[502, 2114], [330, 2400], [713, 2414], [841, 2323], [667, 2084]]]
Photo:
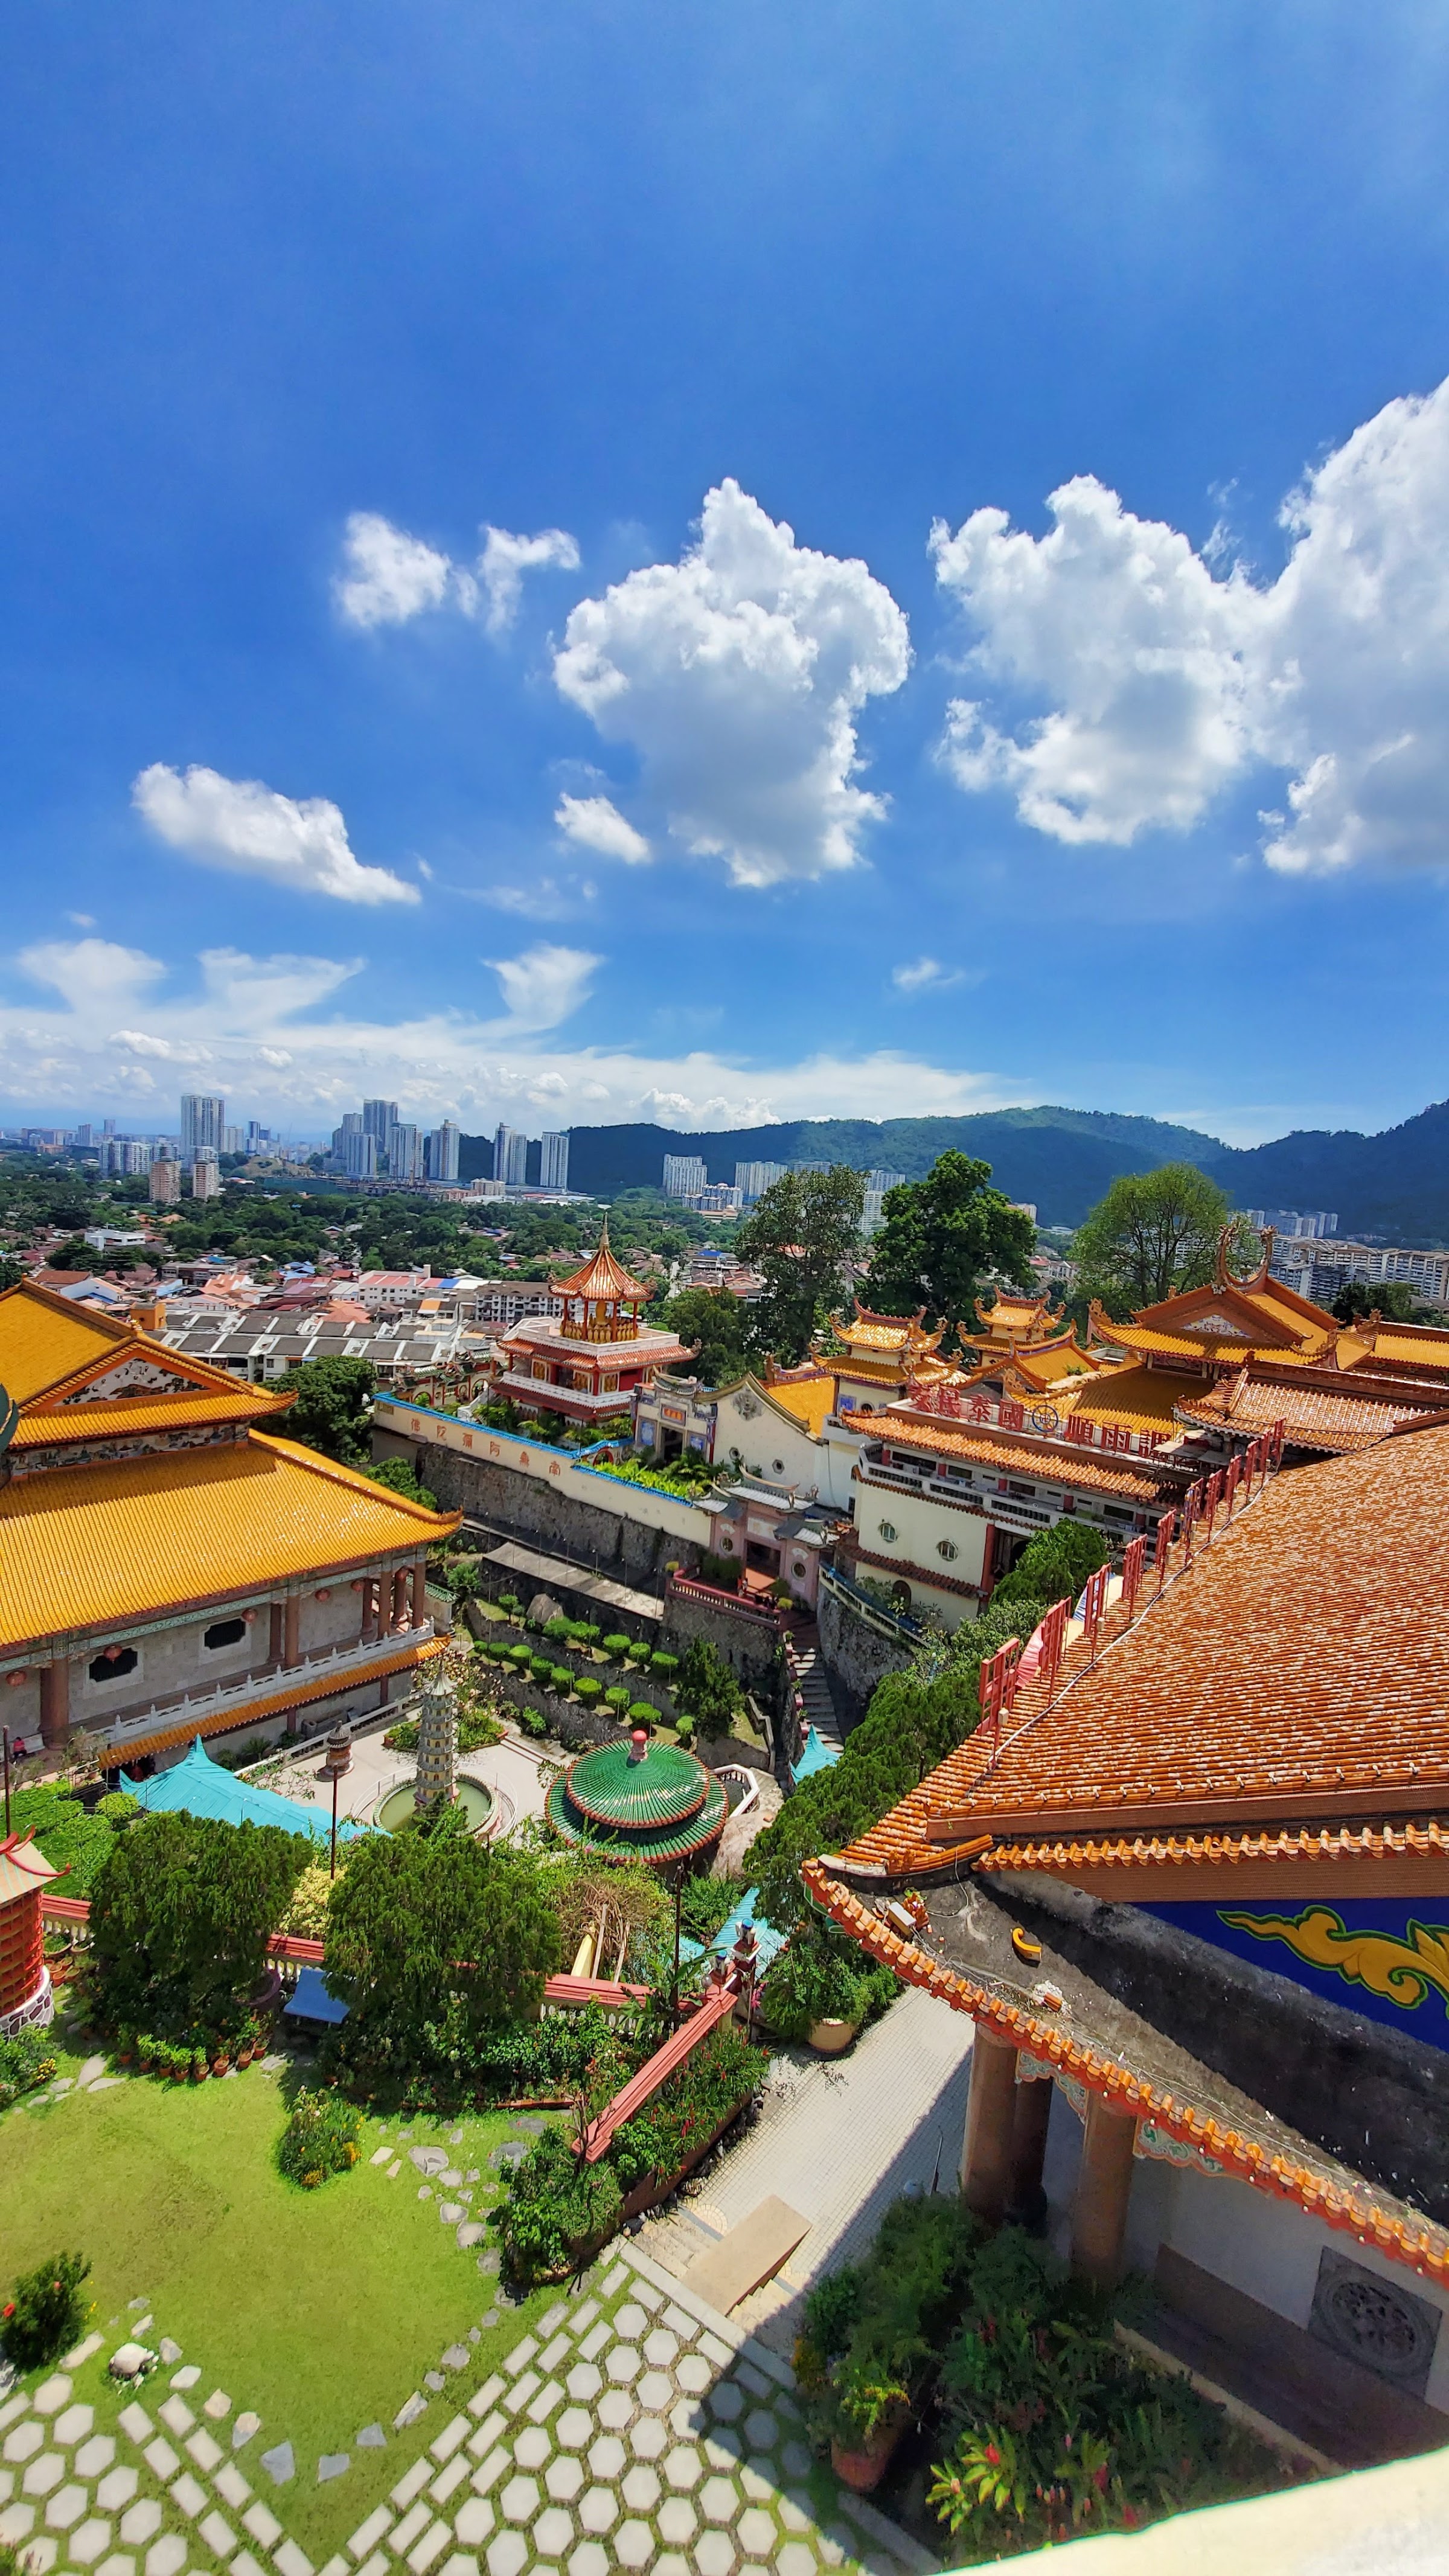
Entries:
[[650, 1293], [614, 1260], [603, 1218], [598, 1252], [557, 1283], [565, 1311], [521, 1316], [500, 1337], [503, 1368], [492, 1396], [583, 1425], [629, 1412], [637, 1388], [650, 1386], [660, 1368], [691, 1360], [699, 1347], [639, 1321]]

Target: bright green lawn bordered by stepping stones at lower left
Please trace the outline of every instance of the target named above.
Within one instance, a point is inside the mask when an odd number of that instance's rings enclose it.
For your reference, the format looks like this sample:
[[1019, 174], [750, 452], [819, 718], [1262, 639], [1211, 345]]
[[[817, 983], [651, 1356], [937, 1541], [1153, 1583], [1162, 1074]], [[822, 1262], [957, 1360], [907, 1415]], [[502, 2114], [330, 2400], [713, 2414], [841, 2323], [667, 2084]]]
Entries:
[[[75, 2066], [70, 2048], [62, 2066]], [[196, 2401], [224, 2388], [235, 2414], [260, 2414], [263, 2429], [237, 2465], [291, 2537], [325, 2561], [400, 2476], [392, 2416], [495, 2300], [495, 2277], [480, 2275], [477, 2254], [459, 2251], [436, 2200], [418, 2200], [418, 2172], [402, 2161], [397, 2182], [387, 2182], [387, 2169], [366, 2159], [400, 2125], [405, 2146], [449, 2146], [462, 2125], [449, 2156], [482, 2169], [482, 2215], [498, 2184], [487, 2151], [518, 2128], [508, 2115], [366, 2123], [356, 2172], [302, 2192], [276, 2172], [284, 2120], [281, 2084], [255, 2066], [235, 2081], [131, 2079], [10, 2112], [0, 2123], [0, 2275], [8, 2282], [67, 2246], [90, 2257], [90, 2324], [106, 2347], [83, 2367], [77, 2396], [98, 2421], [121, 2403], [103, 2367], [134, 2324], [129, 2303], [144, 2298], [155, 2318], [147, 2342], [170, 2334], [201, 2365]], [[472, 2347], [472, 2367], [433, 2396], [438, 2427], [552, 2298], [500, 2306], [498, 2326]], [[165, 2378], [157, 2372], [160, 2393]], [[389, 2434], [387, 2450], [358, 2450], [358, 2429], [374, 2421]], [[284, 2439], [297, 2478], [273, 2491], [258, 2455]], [[418, 2432], [410, 2439], [415, 2447]], [[317, 2458], [343, 2450], [351, 2470], [317, 2486]]]

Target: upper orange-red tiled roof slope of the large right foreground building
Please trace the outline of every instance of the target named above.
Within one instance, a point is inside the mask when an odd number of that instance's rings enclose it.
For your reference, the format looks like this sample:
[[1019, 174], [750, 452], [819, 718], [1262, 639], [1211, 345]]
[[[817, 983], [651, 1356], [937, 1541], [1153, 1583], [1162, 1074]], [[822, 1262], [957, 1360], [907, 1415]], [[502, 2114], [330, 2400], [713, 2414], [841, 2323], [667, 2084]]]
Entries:
[[[1075, 1646], [1000, 1754], [969, 1736], [846, 1862], [1145, 1826], [1413, 1814], [1449, 1798], [1449, 1425], [1279, 1476], [1093, 1669]], [[1173, 1558], [1181, 1566], [1181, 1548]], [[951, 1819], [944, 1837], [933, 1819]], [[1036, 1824], [1039, 1819], [1039, 1824]], [[941, 1839], [944, 1837], [944, 1839]]]

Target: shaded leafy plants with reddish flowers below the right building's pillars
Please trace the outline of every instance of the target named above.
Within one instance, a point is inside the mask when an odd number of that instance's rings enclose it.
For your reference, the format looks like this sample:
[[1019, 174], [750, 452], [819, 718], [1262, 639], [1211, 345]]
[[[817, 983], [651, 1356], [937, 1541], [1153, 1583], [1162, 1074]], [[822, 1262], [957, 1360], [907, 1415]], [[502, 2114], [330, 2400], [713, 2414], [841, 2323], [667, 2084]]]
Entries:
[[972, 2262], [946, 2347], [938, 2416], [951, 2437], [928, 2501], [987, 2558], [1287, 2481], [1281, 2460], [1114, 2334], [1116, 2298], [1049, 2246], [1000, 2228]]

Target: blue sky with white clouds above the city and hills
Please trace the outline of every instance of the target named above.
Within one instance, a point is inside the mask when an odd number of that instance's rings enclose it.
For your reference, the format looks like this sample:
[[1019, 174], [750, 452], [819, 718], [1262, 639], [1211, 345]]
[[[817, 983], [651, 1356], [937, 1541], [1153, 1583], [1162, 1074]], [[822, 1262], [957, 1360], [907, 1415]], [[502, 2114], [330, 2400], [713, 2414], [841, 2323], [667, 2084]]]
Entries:
[[10, 10], [0, 1108], [1439, 1097], [1446, 90], [1403, 5]]

